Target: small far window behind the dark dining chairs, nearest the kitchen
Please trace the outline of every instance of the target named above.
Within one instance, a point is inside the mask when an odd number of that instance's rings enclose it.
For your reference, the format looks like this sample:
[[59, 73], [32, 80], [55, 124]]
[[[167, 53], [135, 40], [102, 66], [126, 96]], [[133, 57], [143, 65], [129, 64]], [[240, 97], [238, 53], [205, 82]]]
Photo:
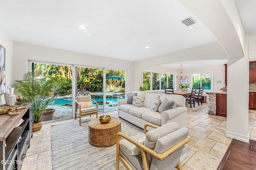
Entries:
[[203, 87], [204, 90], [212, 90], [212, 73], [194, 73], [191, 74], [192, 88], [199, 89]]

